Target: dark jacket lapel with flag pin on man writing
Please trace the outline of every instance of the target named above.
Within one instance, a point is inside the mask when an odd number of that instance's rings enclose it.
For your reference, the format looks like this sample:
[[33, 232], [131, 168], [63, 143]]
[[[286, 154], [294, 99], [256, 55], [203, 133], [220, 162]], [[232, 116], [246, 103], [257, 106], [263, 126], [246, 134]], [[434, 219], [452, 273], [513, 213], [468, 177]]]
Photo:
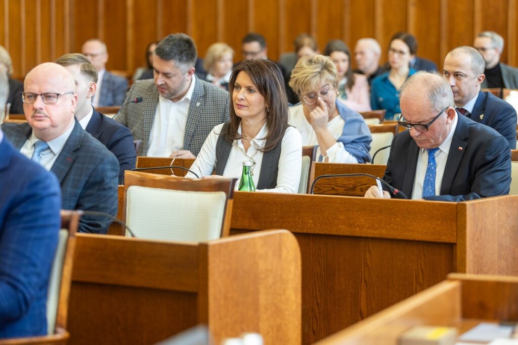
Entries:
[[450, 194], [453, 179], [457, 174], [458, 167], [461, 165], [462, 158], [466, 152], [466, 146], [468, 143], [465, 140], [467, 138], [468, 125], [465, 123], [462, 116], [458, 116], [457, 128], [453, 133], [450, 152], [448, 153], [448, 159], [446, 160], [446, 166], [444, 167], [444, 174], [442, 175], [441, 195]]

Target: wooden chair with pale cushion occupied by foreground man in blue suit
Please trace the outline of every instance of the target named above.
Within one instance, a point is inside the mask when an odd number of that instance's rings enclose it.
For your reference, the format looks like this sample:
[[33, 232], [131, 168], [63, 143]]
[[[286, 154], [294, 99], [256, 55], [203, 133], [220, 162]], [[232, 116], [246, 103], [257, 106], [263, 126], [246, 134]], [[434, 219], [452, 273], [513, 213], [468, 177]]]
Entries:
[[68, 295], [72, 281], [72, 266], [76, 248], [76, 232], [81, 211], [61, 211], [59, 242], [49, 277], [47, 290], [46, 336], [0, 340], [0, 345], [66, 344], [70, 335], [66, 331]]

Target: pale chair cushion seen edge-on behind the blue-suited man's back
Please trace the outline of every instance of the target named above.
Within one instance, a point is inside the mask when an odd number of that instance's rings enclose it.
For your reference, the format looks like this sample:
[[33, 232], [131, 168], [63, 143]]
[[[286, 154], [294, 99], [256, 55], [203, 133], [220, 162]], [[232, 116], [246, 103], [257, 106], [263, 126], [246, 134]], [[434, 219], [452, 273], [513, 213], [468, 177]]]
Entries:
[[65, 260], [66, 243], [68, 239], [68, 231], [61, 229], [59, 233], [59, 242], [57, 243], [54, 261], [49, 277], [49, 288], [47, 291], [47, 334], [54, 334], [56, 326], [57, 305], [60, 299], [61, 276], [63, 274], [63, 262]]

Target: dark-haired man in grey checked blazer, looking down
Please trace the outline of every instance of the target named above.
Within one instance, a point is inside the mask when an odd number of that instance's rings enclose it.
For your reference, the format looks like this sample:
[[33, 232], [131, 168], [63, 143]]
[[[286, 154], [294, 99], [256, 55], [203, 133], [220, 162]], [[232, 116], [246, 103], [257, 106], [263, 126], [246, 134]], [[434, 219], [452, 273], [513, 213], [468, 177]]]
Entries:
[[142, 140], [138, 156], [195, 158], [214, 126], [229, 121], [228, 92], [196, 78], [196, 45], [169, 35], [154, 51], [154, 80], [136, 81], [116, 121]]

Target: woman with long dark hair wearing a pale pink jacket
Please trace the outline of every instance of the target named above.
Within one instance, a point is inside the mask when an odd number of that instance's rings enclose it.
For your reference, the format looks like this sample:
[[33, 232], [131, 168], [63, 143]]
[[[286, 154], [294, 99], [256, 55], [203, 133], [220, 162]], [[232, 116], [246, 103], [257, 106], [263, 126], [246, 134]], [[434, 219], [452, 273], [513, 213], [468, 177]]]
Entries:
[[338, 71], [338, 99], [352, 110], [370, 111], [369, 83], [363, 74], [353, 73], [351, 51], [339, 39], [330, 40], [324, 49]]

